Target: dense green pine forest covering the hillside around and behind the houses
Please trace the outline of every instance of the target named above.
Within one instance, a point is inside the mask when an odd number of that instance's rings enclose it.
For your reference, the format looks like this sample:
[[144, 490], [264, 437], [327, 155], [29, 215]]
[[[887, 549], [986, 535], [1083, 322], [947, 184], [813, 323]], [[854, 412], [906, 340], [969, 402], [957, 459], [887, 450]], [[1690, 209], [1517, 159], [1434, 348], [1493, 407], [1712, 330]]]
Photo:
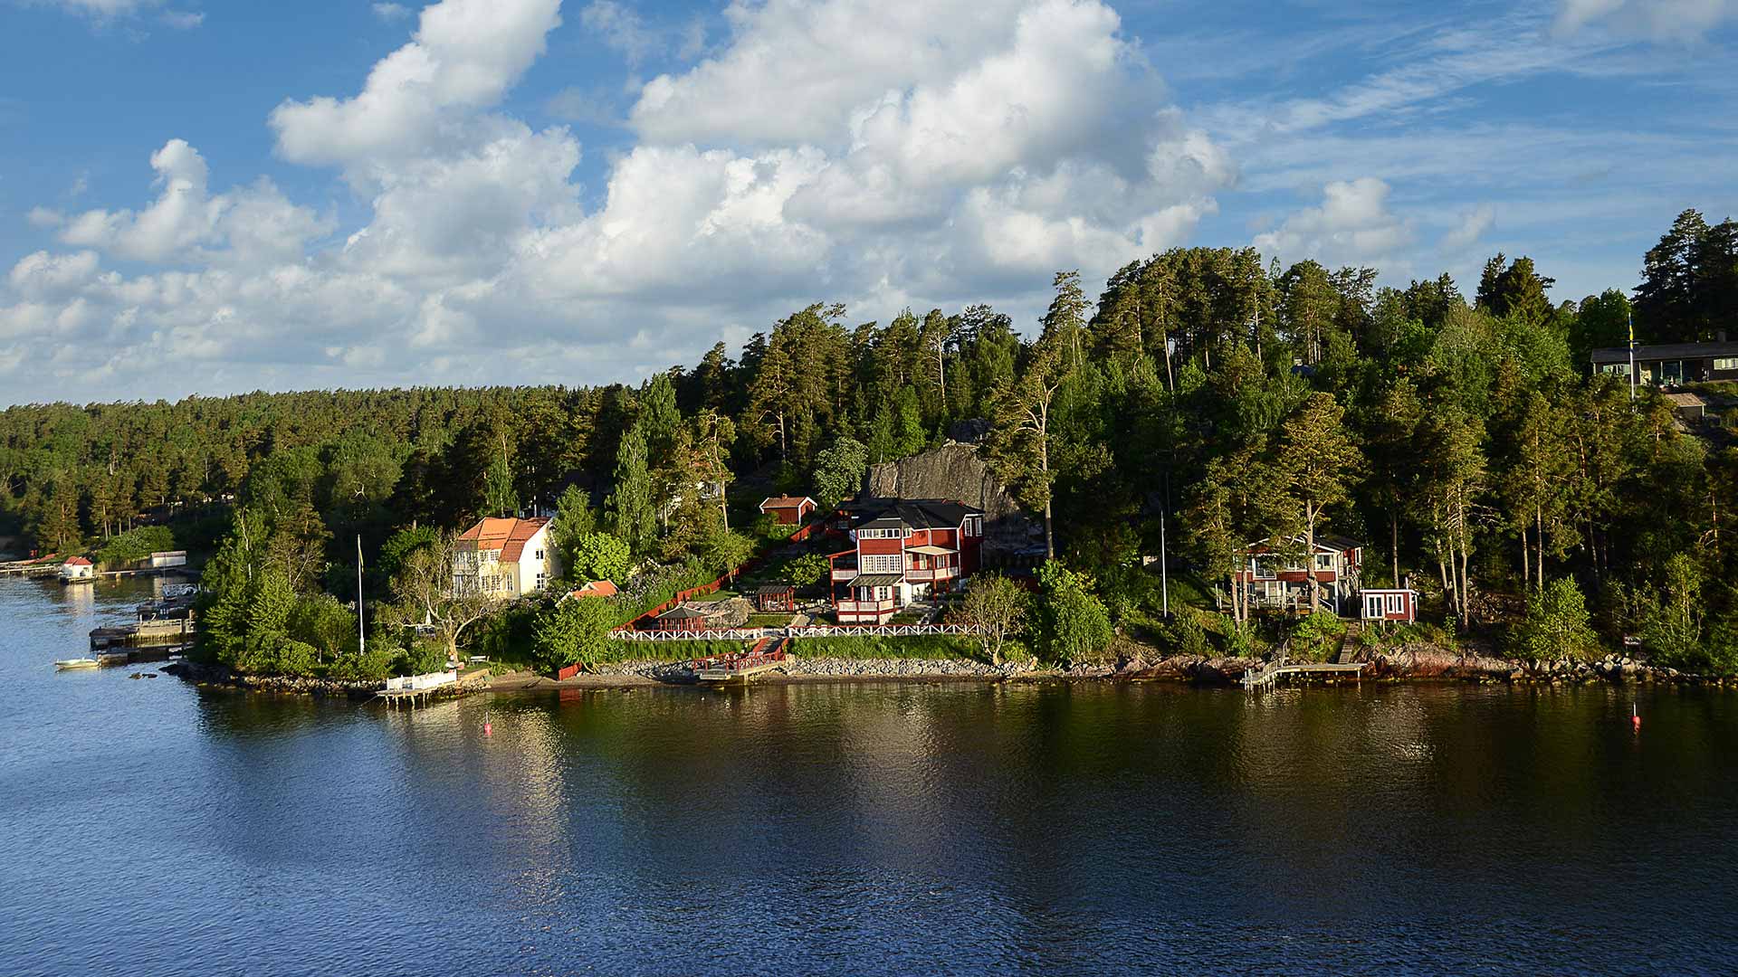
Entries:
[[[1623, 376], [1594, 376], [1589, 351], [1623, 346], [1630, 322], [1641, 342], [1738, 336], [1738, 223], [1684, 212], [1634, 304], [1552, 302], [1547, 271], [1495, 256], [1470, 289], [1378, 289], [1371, 268], [1175, 249], [1097, 297], [1058, 273], [1038, 323], [813, 304], [638, 388], [12, 407], [0, 537], [118, 556], [167, 530], [214, 553], [216, 657], [372, 675], [459, 643], [572, 645], [547, 608], [471, 628], [429, 614], [419, 572], [438, 579], [443, 534], [480, 515], [558, 511], [575, 575], [641, 567], [629, 596], [650, 600], [746, 558], [760, 492], [838, 502], [866, 464], [963, 438], [1045, 528], [1051, 603], [1029, 641], [1050, 657], [1253, 650], [1270, 626], [1231, 582], [1243, 546], [1333, 532], [1366, 544], [1366, 586], [1416, 588], [1449, 636], [1533, 657], [1639, 636], [1656, 661], [1729, 671], [1738, 412], [1689, 428], [1655, 389], [1632, 402]], [[1222, 614], [1159, 617], [1161, 523], [1180, 593], [1217, 591]], [[436, 619], [440, 641], [356, 655], [358, 537], [382, 596], [368, 629]], [[1081, 605], [1109, 628], [1071, 624]]]

